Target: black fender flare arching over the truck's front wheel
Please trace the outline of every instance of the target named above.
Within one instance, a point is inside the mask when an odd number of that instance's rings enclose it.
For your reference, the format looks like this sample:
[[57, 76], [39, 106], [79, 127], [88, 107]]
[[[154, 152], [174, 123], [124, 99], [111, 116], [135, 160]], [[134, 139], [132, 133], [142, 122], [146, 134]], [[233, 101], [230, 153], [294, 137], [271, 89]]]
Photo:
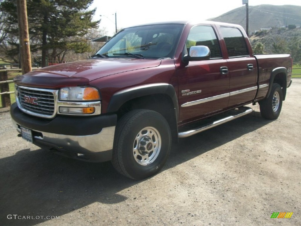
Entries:
[[116, 112], [127, 101], [152, 94], [166, 94], [170, 97], [173, 107], [175, 108], [176, 120], [178, 121], [178, 98], [175, 92], [175, 88], [171, 84], [167, 83], [152, 83], [121, 90], [113, 94], [112, 98], [110, 99], [107, 112]]

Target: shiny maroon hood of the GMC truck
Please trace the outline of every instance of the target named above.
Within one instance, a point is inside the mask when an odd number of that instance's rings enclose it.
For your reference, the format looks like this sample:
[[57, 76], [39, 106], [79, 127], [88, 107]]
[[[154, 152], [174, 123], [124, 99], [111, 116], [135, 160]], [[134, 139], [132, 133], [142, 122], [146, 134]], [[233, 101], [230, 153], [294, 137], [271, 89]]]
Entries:
[[161, 60], [106, 58], [57, 64], [18, 76], [18, 85], [58, 89], [64, 86], [88, 85], [90, 81], [149, 67], [158, 67]]

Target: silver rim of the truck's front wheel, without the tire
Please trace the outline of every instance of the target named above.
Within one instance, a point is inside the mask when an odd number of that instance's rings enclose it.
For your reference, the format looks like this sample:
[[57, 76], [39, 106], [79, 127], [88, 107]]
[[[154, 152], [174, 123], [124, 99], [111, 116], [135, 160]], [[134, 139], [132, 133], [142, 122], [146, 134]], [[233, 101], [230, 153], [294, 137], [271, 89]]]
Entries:
[[133, 144], [133, 155], [139, 165], [153, 163], [161, 150], [161, 136], [154, 127], [145, 127], [136, 135]]

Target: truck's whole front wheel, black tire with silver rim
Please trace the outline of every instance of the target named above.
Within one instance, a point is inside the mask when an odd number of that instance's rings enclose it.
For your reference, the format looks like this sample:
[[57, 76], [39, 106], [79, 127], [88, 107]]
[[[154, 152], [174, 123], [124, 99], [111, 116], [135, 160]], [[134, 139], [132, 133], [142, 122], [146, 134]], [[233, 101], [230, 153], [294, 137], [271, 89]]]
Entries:
[[171, 148], [166, 119], [151, 110], [133, 110], [117, 123], [112, 163], [126, 177], [141, 180], [161, 170]]

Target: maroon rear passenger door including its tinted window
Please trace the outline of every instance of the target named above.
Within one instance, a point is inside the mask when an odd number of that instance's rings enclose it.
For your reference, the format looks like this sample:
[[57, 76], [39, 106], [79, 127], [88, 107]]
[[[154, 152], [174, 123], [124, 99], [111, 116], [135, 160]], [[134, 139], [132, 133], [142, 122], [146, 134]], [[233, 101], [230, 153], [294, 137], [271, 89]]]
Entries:
[[247, 42], [236, 27], [219, 27], [228, 52], [230, 75], [229, 107], [242, 105], [255, 98], [257, 90], [257, 63], [250, 55]]

